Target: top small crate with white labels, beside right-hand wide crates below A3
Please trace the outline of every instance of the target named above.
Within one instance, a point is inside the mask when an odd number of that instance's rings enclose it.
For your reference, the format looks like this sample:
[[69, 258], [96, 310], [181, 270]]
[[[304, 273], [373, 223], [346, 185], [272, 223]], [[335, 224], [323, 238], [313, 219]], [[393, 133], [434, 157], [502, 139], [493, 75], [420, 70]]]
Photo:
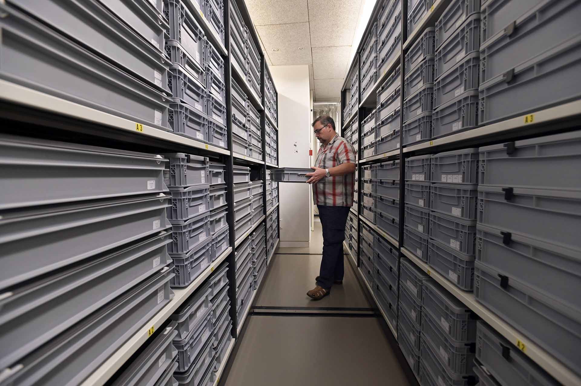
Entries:
[[461, 149], [432, 154], [431, 161], [433, 182], [478, 183], [478, 149]]

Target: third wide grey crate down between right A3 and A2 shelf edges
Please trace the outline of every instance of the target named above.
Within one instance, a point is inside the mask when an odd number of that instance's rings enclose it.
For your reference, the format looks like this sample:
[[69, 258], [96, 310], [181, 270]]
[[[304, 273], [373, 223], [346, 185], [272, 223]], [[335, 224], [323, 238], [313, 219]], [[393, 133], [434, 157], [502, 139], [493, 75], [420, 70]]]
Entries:
[[517, 233], [511, 233], [509, 241], [504, 236], [507, 232], [481, 224], [476, 226], [476, 235], [476, 261], [527, 283], [555, 304], [581, 308], [575, 290], [581, 279], [575, 248], [555, 246]]

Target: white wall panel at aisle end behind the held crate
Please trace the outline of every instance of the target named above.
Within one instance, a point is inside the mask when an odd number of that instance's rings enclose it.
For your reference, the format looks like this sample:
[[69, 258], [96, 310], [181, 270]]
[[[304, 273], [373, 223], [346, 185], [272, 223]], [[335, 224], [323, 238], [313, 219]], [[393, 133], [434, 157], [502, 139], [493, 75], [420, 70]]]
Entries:
[[[278, 91], [278, 165], [310, 168], [309, 66], [270, 66]], [[281, 247], [308, 247], [311, 237], [311, 188], [306, 183], [279, 184]]]

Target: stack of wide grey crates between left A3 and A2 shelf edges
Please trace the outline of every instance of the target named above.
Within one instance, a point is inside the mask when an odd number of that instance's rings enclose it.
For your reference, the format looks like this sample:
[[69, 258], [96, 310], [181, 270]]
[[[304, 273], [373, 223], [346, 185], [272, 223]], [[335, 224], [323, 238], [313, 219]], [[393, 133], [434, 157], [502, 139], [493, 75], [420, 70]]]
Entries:
[[8, 135], [0, 154], [3, 381], [78, 384], [173, 298], [168, 160]]

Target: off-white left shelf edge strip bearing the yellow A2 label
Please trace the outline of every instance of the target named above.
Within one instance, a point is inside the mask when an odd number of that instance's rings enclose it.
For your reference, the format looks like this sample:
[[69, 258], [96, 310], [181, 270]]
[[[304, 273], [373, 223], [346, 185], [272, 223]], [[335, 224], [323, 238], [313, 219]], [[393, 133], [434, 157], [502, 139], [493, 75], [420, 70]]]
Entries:
[[174, 291], [174, 298], [153, 316], [149, 322], [145, 323], [137, 333], [134, 334], [123, 346], [121, 346], [113, 355], [111, 355], [105, 362], [99, 366], [87, 379], [83, 381], [82, 386], [101, 386], [109, 380], [110, 377], [120, 369], [121, 366], [133, 355], [145, 341], [148, 340], [150, 333], [149, 330], [153, 327], [154, 331], [159, 329], [160, 326], [170, 317], [172, 313], [185, 301], [187, 298], [194, 293], [194, 291], [210, 276], [210, 273], [217, 268], [221, 262], [223, 262], [228, 255], [232, 252], [232, 247], [228, 247], [227, 250], [223, 252], [213, 261], [212, 264], [207, 267], [196, 279], [185, 288], [172, 288]]

